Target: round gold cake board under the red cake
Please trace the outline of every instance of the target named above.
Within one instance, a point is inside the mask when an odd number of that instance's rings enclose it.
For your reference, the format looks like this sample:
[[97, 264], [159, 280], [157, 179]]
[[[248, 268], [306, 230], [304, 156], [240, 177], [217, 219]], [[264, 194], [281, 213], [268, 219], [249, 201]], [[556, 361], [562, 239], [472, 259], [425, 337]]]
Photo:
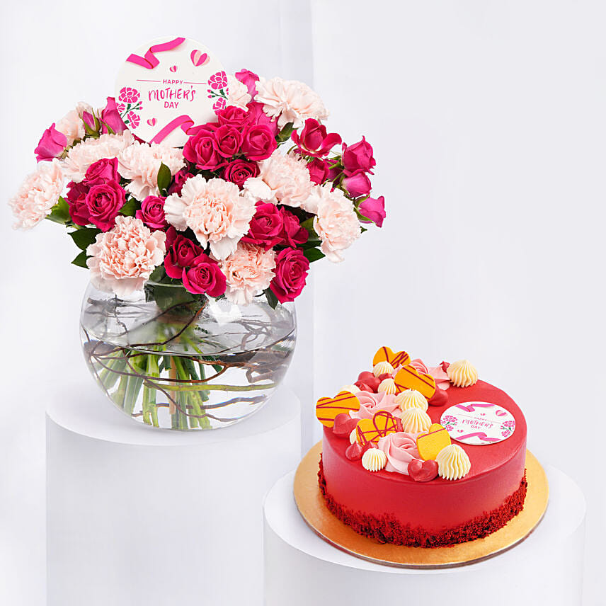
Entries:
[[319, 537], [338, 549], [375, 564], [401, 568], [451, 568], [472, 564], [501, 554], [523, 541], [537, 527], [547, 509], [547, 477], [541, 464], [527, 450], [528, 488], [524, 508], [500, 530], [483, 539], [452, 547], [406, 547], [378, 543], [343, 524], [326, 507], [318, 486], [321, 447], [322, 442], [311, 447], [297, 467], [294, 492], [299, 512]]

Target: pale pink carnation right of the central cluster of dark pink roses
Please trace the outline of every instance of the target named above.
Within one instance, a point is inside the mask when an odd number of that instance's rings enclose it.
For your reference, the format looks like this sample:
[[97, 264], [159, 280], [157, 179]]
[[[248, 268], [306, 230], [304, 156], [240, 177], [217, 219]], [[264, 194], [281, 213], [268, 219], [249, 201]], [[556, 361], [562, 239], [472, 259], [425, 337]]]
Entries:
[[314, 212], [307, 204], [313, 183], [304, 160], [296, 156], [282, 156], [276, 150], [268, 159], [259, 162], [258, 166], [259, 175], [244, 183], [244, 188], [253, 198]]

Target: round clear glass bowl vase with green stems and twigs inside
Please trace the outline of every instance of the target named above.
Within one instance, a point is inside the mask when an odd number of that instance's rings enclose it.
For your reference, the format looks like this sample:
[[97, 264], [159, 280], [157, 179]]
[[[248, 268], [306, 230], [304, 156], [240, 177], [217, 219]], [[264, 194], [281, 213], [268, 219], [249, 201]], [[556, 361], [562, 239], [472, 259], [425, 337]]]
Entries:
[[148, 282], [130, 299], [88, 286], [82, 350], [91, 374], [128, 416], [153, 427], [237, 423], [265, 404], [295, 349], [295, 306], [249, 305]]

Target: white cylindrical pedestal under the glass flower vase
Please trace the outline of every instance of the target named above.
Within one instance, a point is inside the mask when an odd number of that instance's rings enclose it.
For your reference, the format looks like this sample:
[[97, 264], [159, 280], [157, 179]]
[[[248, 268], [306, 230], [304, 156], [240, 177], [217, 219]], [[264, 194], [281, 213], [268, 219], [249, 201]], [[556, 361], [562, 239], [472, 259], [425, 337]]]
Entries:
[[263, 496], [301, 456], [296, 396], [177, 432], [95, 389], [47, 410], [48, 606], [261, 605]]

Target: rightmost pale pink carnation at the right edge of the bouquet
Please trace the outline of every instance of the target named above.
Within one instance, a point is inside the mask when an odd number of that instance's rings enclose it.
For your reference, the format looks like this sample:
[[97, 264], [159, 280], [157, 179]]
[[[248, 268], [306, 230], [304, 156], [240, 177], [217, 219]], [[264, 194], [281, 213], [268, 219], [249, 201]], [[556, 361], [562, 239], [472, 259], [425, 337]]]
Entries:
[[328, 260], [338, 263], [343, 261], [341, 251], [349, 248], [362, 231], [353, 204], [341, 190], [331, 191], [331, 187], [331, 183], [314, 185], [309, 206], [316, 207], [314, 229], [322, 241], [320, 250]]

